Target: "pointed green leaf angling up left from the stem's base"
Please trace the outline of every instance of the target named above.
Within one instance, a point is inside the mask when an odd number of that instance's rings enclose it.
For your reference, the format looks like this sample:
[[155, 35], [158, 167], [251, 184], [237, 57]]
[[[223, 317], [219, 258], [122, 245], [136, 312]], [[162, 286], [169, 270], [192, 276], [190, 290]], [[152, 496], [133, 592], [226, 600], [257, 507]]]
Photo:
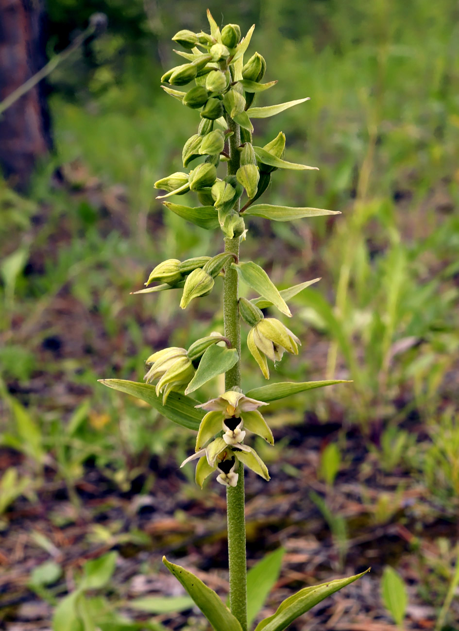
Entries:
[[169, 563], [165, 557], [162, 558], [162, 561], [169, 572], [176, 577], [177, 581], [181, 582], [215, 631], [242, 631], [237, 619], [227, 606], [222, 603], [222, 600], [213, 589], [207, 587], [197, 576], [180, 565]]

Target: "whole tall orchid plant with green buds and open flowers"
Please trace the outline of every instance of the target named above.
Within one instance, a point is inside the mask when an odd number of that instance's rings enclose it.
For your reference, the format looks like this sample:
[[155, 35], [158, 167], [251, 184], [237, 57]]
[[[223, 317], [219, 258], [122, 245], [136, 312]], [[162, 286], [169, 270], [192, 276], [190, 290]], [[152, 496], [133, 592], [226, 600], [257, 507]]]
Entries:
[[[297, 355], [301, 342], [282, 321], [265, 317], [262, 309], [277, 309], [280, 314], [291, 317], [286, 301], [319, 280], [278, 291], [260, 266], [240, 257], [240, 245], [247, 235], [244, 218], [290, 221], [336, 213], [319, 208], [255, 203], [278, 168], [299, 171], [316, 168], [284, 160], [285, 135], [282, 132], [263, 147], [253, 144], [254, 119], [279, 114], [306, 102], [307, 98], [254, 107], [256, 95], [277, 83], [261, 83], [266, 71], [261, 54], [255, 52], [244, 60], [254, 27], [241, 39], [238, 25], [227, 24], [220, 30], [209, 11], [207, 16], [210, 33], [181, 30], [172, 38], [184, 49], [176, 52], [186, 62], [162, 76], [162, 88], [185, 107], [196, 110], [200, 122], [197, 132], [183, 147], [182, 162], [186, 171], [158, 180], [155, 187], [164, 191], [158, 199], [165, 200], [163, 204], [168, 211], [205, 230], [220, 230], [224, 251], [212, 257], [161, 262], [150, 274], [146, 288], [136, 293], [181, 289], [180, 307], [186, 309], [195, 298], [212, 292], [216, 279], [222, 276], [225, 331], [224, 334], [211, 332], [188, 349], [172, 347], [153, 353], [146, 360], [150, 368], [145, 384], [119, 379], [105, 379], [102, 383], [147, 401], [172, 422], [197, 432], [195, 452], [182, 466], [196, 459], [196, 483], [200, 487], [206, 478], [215, 474], [217, 482], [226, 487], [230, 609], [189, 570], [165, 558], [164, 563], [216, 631], [247, 631], [254, 616], [250, 615], [247, 622], [244, 468], [270, 480], [266, 464], [250, 442], [253, 434], [270, 445], [274, 442], [260, 408], [264, 410], [270, 401], [337, 384], [340, 380], [274, 383], [246, 392], [242, 389], [241, 320], [250, 327], [249, 351], [263, 376], [269, 379], [268, 362], [277, 362], [284, 352]], [[177, 89], [190, 84], [188, 91]], [[196, 166], [189, 170], [191, 163]], [[226, 166], [223, 177], [218, 175], [220, 165]], [[197, 194], [200, 206], [192, 208], [169, 201], [172, 196], [188, 191]], [[251, 300], [240, 297], [239, 281], [257, 297]], [[220, 374], [225, 375], [225, 392], [217, 393], [218, 396], [206, 403], [189, 396]], [[287, 628], [314, 604], [359, 576], [361, 574], [301, 589], [280, 604], [274, 615], [261, 620], [255, 631]]]

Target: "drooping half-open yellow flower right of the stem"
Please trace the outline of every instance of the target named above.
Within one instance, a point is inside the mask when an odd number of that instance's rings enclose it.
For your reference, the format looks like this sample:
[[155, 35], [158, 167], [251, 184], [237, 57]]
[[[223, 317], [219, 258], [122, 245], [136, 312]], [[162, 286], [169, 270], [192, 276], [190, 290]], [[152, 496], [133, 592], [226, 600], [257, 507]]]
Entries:
[[277, 362], [282, 359], [284, 351], [298, 355], [298, 345], [301, 345], [301, 342], [297, 336], [282, 322], [272, 317], [266, 317], [257, 322], [247, 336], [249, 351], [258, 363], [265, 379], [270, 378], [266, 357], [271, 362]]

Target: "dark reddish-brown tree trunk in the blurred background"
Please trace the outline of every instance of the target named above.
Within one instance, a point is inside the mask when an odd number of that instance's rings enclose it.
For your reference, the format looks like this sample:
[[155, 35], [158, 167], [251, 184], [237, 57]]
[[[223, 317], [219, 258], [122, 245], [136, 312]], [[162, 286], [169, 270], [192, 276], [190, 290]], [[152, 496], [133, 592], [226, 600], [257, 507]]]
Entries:
[[[44, 0], [0, 0], [0, 102], [45, 65], [45, 45]], [[8, 184], [25, 191], [37, 158], [51, 148], [40, 81], [0, 117], [0, 168]]]

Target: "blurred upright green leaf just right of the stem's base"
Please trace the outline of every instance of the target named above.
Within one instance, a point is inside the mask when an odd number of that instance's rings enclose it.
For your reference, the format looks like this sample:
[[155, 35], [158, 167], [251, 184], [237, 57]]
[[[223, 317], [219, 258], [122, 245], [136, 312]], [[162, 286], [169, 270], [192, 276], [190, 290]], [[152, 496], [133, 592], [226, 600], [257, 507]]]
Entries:
[[247, 626], [251, 628], [256, 615], [280, 574], [283, 548], [267, 554], [247, 572]]

